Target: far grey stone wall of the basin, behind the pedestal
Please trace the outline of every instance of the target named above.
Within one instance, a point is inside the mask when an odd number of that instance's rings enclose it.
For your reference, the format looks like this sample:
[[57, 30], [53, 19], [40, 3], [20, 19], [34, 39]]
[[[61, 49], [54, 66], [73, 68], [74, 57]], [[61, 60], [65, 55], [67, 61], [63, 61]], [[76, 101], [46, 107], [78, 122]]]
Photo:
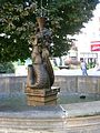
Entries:
[[[26, 76], [0, 76], [0, 95], [24, 93]], [[98, 93], [100, 94], [100, 76], [59, 76], [54, 78], [54, 86], [60, 92]]]

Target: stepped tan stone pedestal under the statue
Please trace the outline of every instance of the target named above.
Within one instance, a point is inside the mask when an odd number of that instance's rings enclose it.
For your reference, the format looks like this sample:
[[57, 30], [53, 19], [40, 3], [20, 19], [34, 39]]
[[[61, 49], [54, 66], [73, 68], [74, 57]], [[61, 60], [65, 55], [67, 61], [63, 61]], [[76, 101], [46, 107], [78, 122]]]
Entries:
[[26, 88], [28, 105], [56, 105], [60, 88], [31, 89]]

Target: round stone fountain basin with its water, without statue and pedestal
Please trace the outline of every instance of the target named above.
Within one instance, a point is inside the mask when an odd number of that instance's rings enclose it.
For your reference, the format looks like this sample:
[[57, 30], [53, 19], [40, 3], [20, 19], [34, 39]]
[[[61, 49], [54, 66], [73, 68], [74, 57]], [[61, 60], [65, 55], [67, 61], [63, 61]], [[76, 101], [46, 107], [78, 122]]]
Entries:
[[100, 78], [56, 76], [54, 85], [63, 93], [51, 106], [27, 105], [26, 78], [2, 76], [0, 81], [1, 133], [100, 133]]

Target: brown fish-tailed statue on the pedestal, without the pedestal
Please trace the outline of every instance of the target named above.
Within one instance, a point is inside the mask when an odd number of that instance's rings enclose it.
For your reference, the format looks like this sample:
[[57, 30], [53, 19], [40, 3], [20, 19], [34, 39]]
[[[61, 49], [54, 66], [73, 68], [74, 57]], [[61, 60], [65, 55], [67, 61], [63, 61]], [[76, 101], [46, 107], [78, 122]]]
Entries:
[[40, 17], [39, 19], [39, 28], [31, 42], [32, 64], [28, 66], [27, 86], [31, 89], [50, 89], [54, 82], [53, 69], [49, 60], [52, 33], [44, 28], [46, 18]]

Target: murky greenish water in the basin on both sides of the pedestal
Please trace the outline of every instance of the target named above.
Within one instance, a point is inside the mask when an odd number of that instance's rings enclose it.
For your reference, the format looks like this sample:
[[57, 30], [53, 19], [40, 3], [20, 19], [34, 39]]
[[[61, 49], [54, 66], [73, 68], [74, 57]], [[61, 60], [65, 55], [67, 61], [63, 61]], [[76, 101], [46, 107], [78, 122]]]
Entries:
[[[99, 101], [99, 94], [80, 94], [80, 93], [59, 93], [58, 104], [69, 104], [79, 102]], [[27, 105], [27, 96], [24, 93], [18, 94], [0, 94], [0, 111], [26, 111], [32, 110], [33, 106]]]

